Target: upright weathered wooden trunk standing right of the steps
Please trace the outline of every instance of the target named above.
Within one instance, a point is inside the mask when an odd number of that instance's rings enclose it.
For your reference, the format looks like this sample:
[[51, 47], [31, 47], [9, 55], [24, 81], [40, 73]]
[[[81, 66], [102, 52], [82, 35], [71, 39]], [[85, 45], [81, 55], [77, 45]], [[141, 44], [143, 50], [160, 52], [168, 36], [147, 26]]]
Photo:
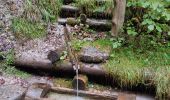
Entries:
[[126, 0], [114, 0], [115, 8], [112, 18], [112, 36], [117, 37], [122, 28], [126, 10]]

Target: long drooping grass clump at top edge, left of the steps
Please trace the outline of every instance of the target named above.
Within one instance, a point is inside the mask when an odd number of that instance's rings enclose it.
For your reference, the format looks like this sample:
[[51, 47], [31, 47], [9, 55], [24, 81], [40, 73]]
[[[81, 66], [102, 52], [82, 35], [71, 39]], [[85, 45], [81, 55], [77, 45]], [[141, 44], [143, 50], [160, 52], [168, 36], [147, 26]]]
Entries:
[[62, 6], [61, 0], [26, 0], [26, 19], [39, 19], [45, 22], [56, 21]]

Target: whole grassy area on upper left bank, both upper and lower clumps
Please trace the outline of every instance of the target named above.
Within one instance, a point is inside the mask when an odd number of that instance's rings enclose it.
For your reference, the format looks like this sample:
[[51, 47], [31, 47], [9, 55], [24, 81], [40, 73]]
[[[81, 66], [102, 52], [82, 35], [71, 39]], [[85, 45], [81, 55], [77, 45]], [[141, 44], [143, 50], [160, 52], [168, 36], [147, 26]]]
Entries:
[[48, 22], [56, 21], [61, 8], [61, 0], [26, 0], [24, 13], [13, 19], [16, 37], [40, 38], [47, 32]]

